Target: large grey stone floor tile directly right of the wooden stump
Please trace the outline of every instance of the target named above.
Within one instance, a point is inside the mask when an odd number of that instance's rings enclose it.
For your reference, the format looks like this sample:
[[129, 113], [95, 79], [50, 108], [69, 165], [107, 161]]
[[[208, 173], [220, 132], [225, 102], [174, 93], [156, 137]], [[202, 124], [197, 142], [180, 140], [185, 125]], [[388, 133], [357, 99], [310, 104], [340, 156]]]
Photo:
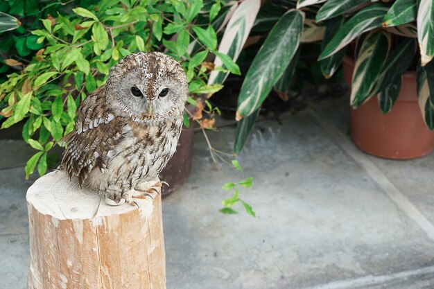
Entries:
[[[257, 218], [218, 213], [236, 177], [218, 175], [196, 136], [191, 178], [164, 201], [168, 288], [309, 288], [434, 264], [432, 240], [309, 114], [282, 119], [260, 123], [239, 157]], [[227, 151], [233, 133], [209, 137]]]

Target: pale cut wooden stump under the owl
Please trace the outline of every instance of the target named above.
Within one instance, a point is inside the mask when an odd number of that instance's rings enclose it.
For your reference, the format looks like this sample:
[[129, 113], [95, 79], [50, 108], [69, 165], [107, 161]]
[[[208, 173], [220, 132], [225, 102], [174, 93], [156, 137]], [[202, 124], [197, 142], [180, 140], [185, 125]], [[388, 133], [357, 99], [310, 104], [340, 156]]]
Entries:
[[37, 179], [26, 199], [28, 289], [166, 288], [160, 195], [111, 207], [58, 171]]

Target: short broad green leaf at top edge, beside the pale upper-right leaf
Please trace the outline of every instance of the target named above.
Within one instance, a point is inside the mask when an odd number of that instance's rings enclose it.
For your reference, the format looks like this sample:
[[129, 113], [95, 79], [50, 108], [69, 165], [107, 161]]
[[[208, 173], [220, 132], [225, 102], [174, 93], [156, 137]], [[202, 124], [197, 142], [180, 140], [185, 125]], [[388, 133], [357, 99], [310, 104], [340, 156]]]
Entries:
[[398, 26], [415, 21], [416, 1], [397, 0], [383, 18], [383, 27]]

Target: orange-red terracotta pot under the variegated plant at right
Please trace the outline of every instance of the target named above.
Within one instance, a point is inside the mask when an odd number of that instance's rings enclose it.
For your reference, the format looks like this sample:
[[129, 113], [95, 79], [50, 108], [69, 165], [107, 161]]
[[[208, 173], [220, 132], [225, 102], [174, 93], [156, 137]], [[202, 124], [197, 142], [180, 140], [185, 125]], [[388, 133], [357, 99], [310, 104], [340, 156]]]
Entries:
[[[344, 58], [343, 70], [351, 88], [354, 60]], [[404, 73], [397, 102], [387, 114], [381, 112], [377, 97], [351, 108], [351, 137], [357, 148], [388, 159], [413, 159], [434, 149], [434, 132], [424, 123], [416, 86], [416, 73]]]

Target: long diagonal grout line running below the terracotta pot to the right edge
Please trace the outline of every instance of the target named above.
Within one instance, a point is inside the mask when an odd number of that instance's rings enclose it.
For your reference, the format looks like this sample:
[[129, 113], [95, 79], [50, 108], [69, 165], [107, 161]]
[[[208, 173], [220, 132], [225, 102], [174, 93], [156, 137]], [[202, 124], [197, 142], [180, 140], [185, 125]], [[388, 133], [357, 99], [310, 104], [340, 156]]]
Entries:
[[386, 177], [383, 172], [374, 164], [370, 158], [363, 152], [360, 152], [347, 137], [345, 137], [335, 125], [329, 121], [327, 116], [322, 114], [314, 105], [309, 104], [312, 110], [309, 110], [309, 114], [313, 116], [315, 121], [322, 127], [329, 137], [332, 137], [332, 141], [335, 142], [347, 155], [349, 155], [357, 164], [365, 169], [366, 173], [378, 184], [381, 189], [388, 195], [401, 211], [406, 213], [408, 218], [412, 219], [422, 229], [431, 240], [434, 241], [434, 225], [426, 216], [417, 209], [417, 207], [404, 196], [399, 189], [397, 189], [392, 182]]

